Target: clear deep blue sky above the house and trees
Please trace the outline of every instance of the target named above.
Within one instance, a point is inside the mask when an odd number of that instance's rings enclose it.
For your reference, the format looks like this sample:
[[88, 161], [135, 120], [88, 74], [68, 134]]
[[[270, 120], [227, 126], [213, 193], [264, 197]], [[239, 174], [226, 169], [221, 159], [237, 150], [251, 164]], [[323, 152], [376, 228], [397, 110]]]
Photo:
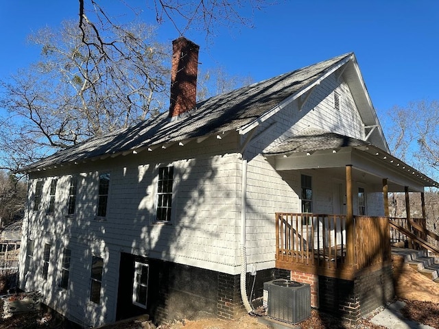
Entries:
[[[148, 1], [126, 1], [144, 9], [144, 21], [155, 23]], [[439, 99], [439, 1], [278, 2], [254, 12], [253, 28], [219, 29], [209, 48], [202, 32], [187, 33], [201, 47], [202, 69], [221, 66], [257, 82], [353, 51], [383, 125], [394, 105]], [[104, 6], [126, 9], [118, 0]], [[0, 0], [0, 78], [38, 59], [27, 35], [77, 18], [76, 0]], [[178, 37], [166, 23], [157, 33], [163, 42]]]

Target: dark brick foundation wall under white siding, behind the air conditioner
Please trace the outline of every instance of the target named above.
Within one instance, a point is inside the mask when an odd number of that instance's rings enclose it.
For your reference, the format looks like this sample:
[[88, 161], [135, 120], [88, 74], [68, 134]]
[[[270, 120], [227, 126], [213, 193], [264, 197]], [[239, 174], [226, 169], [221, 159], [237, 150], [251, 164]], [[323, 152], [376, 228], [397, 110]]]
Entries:
[[[218, 319], [238, 319], [246, 314], [241, 299], [240, 275], [230, 275], [198, 267], [147, 260], [150, 264], [150, 314], [156, 324], [173, 319], [194, 319], [210, 315]], [[265, 269], [256, 276], [247, 273], [248, 300], [263, 296], [263, 282], [289, 278], [289, 271]]]

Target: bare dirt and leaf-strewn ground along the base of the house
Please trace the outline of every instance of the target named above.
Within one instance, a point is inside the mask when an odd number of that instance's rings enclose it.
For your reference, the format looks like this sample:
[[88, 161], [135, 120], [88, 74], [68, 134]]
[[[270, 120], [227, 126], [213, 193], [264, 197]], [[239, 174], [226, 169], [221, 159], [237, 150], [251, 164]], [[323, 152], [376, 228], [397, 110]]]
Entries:
[[[403, 264], [401, 258], [394, 258], [394, 282], [396, 297], [407, 303], [402, 312], [407, 319], [427, 324], [439, 329], [439, 284], [429, 280], [408, 265]], [[378, 312], [377, 310], [376, 312]], [[375, 313], [376, 313], [375, 312]], [[366, 319], [361, 319], [355, 327], [349, 327], [340, 323], [339, 319], [329, 315], [311, 311], [311, 317], [300, 323], [300, 327], [313, 329], [382, 329], [375, 326], [369, 319], [375, 315], [372, 313]], [[44, 313], [27, 313], [14, 316], [9, 319], [0, 319], [1, 329], [66, 329], [68, 328], [61, 319], [45, 315]], [[173, 321], [169, 324], [154, 326], [149, 321], [133, 320], [124, 323], [112, 324], [102, 329], [268, 329], [261, 324], [257, 317], [246, 315], [235, 321], [223, 321], [219, 319], [200, 319], [198, 321]]]

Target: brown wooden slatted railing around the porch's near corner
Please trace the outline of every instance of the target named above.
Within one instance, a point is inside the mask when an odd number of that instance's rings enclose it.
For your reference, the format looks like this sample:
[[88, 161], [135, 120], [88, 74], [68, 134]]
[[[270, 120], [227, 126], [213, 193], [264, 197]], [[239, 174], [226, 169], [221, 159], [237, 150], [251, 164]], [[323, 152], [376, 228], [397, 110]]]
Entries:
[[[351, 278], [355, 272], [390, 260], [386, 217], [356, 216], [355, 241], [346, 241], [346, 216], [276, 213], [276, 267]], [[353, 263], [348, 244], [353, 243]]]

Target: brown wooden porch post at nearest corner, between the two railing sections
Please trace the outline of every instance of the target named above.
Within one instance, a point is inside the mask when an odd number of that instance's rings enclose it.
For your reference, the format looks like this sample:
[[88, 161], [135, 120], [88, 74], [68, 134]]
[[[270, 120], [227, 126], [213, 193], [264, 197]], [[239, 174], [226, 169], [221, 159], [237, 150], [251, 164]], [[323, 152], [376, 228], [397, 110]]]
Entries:
[[352, 164], [346, 165], [346, 263], [355, 265]]

